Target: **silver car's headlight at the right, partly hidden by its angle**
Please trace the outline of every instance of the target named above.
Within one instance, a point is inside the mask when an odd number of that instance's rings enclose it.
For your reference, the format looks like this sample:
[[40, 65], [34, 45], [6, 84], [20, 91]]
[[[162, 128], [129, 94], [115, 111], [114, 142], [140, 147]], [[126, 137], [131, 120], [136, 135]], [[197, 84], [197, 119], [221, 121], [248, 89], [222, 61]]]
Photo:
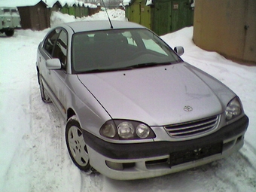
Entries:
[[226, 119], [231, 120], [239, 116], [239, 114], [241, 113], [242, 113], [242, 104], [240, 100], [237, 97], [235, 97], [227, 104], [227, 108], [225, 111]]

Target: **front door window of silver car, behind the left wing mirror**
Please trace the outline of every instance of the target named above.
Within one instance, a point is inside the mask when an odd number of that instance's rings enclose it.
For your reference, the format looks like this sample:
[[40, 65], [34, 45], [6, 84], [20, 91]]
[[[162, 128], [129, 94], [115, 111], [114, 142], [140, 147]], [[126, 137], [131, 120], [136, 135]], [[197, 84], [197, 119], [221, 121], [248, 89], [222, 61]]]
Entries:
[[68, 48], [68, 35], [62, 30], [59, 34], [59, 38], [56, 41], [56, 45], [53, 50], [53, 58], [59, 58], [62, 62], [62, 66], [66, 66], [67, 62], [67, 48]]

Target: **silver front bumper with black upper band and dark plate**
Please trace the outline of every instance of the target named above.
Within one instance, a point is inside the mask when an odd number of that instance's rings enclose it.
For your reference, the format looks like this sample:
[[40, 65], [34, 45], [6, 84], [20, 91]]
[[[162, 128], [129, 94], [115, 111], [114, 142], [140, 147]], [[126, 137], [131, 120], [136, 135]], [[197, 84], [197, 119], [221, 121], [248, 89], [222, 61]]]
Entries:
[[93, 168], [109, 178], [130, 180], [179, 172], [227, 157], [242, 148], [247, 127], [245, 115], [209, 136], [182, 142], [114, 144], [85, 130], [83, 135]]

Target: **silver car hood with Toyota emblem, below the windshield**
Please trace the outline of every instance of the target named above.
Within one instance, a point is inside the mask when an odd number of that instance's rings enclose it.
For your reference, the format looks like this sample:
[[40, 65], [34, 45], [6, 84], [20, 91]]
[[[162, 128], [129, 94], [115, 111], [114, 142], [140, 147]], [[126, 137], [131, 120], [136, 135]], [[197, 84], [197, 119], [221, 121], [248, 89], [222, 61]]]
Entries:
[[114, 119], [162, 126], [221, 114], [234, 93], [206, 73], [179, 63], [78, 75]]

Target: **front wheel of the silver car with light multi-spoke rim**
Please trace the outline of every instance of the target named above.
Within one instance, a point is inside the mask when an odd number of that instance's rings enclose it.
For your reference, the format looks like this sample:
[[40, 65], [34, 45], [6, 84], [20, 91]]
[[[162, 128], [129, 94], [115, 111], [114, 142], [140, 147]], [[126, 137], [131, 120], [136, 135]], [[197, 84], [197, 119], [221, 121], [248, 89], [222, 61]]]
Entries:
[[66, 145], [73, 163], [87, 174], [95, 172], [93, 167], [90, 166], [87, 146], [84, 142], [81, 126], [78, 120], [76, 120], [76, 116], [69, 118], [68, 123], [66, 124], [65, 136]]

